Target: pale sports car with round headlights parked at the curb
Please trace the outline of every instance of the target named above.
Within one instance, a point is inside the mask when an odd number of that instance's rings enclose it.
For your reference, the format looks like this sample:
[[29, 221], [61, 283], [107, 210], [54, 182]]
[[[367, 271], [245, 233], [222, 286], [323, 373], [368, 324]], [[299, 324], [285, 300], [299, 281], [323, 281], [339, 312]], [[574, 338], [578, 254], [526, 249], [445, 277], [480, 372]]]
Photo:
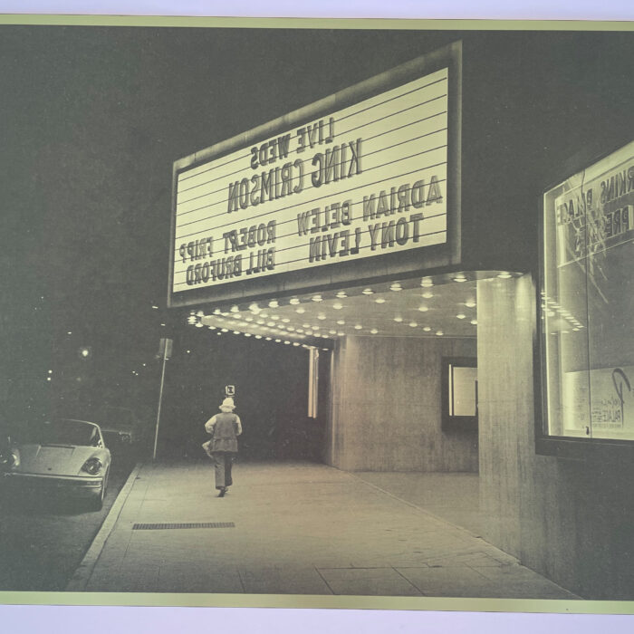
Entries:
[[7, 487], [87, 497], [94, 510], [101, 509], [109, 473], [110, 450], [101, 428], [86, 420], [46, 421], [0, 454], [0, 476]]

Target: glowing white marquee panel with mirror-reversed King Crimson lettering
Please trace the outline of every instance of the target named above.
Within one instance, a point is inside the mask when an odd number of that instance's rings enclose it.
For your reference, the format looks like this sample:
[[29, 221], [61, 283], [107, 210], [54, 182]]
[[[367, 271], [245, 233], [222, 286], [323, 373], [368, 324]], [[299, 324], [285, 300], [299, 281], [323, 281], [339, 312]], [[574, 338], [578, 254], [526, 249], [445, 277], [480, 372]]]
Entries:
[[452, 70], [177, 170], [171, 297], [447, 244]]

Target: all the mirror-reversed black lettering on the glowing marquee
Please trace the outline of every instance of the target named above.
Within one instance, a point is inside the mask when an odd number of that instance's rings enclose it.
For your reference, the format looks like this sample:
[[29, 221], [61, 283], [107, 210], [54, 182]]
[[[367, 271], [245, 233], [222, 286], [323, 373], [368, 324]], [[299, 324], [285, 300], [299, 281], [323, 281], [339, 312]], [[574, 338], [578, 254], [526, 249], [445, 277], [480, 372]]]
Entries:
[[[363, 172], [362, 146], [361, 138], [338, 142], [332, 117], [257, 145], [250, 149], [249, 160], [256, 173], [228, 184], [226, 213], [239, 214], [249, 207], [300, 194], [307, 187], [317, 190], [355, 178]], [[294, 160], [289, 159], [293, 149], [299, 155]], [[307, 159], [303, 157], [306, 151], [312, 151]], [[361, 249], [373, 255], [408, 243], [416, 245], [423, 235], [426, 209], [444, 200], [444, 185], [443, 178], [432, 175], [427, 180], [377, 187], [363, 193], [356, 203], [341, 197], [322, 206], [310, 205], [296, 212], [296, 220], [293, 216], [280, 220], [280, 224], [296, 222], [290, 234], [286, 227], [278, 233], [277, 220], [273, 219], [182, 243], [178, 253], [183, 264], [190, 263], [187, 285], [270, 274], [275, 270], [280, 239], [285, 240], [284, 250], [293, 252], [282, 264], [292, 261], [296, 264], [293, 268], [359, 255]], [[302, 238], [299, 245], [293, 235]], [[293, 245], [288, 246], [291, 241]], [[294, 255], [299, 247], [305, 248], [303, 254]], [[243, 253], [246, 250], [248, 253]]]

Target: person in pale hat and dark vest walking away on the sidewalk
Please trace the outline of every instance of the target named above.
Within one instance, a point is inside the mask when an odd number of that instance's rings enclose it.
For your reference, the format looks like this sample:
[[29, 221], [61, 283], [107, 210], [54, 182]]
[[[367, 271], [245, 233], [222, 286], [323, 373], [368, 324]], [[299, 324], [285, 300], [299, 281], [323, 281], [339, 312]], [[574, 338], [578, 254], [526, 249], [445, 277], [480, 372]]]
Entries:
[[237, 454], [237, 437], [242, 434], [242, 422], [234, 409], [234, 399], [227, 398], [220, 405], [220, 414], [205, 423], [207, 434], [211, 434], [209, 453], [214, 461], [218, 497], [224, 497], [233, 485], [231, 466]]

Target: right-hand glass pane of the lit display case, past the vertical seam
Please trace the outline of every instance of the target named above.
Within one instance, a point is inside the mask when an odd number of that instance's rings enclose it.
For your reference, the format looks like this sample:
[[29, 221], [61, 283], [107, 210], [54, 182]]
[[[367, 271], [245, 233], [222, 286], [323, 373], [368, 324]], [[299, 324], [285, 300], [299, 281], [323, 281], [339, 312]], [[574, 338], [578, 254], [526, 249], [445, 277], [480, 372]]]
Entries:
[[[593, 437], [634, 439], [634, 143], [592, 170], [600, 197], [588, 237]], [[590, 170], [589, 170], [590, 171]]]

